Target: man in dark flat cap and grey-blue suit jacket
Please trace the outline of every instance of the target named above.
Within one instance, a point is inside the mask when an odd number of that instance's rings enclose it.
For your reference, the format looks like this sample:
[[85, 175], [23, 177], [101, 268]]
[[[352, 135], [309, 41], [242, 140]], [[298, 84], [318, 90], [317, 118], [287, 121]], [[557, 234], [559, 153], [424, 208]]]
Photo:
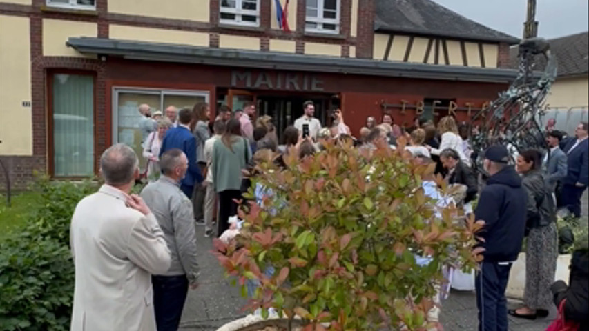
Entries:
[[549, 131], [546, 134], [548, 152], [544, 156], [544, 168], [546, 172], [546, 186], [554, 193], [559, 181], [566, 177], [566, 154], [559, 148], [562, 140], [562, 132], [558, 130]]

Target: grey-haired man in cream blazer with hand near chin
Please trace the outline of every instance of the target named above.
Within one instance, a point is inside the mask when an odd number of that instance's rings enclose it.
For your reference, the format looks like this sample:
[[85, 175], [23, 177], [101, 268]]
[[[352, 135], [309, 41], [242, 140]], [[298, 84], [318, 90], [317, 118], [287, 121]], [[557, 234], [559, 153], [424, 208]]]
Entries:
[[139, 174], [128, 146], [100, 159], [106, 181], [76, 206], [70, 228], [75, 263], [72, 331], [155, 331], [151, 274], [168, 271], [170, 251], [144, 201], [129, 195]]

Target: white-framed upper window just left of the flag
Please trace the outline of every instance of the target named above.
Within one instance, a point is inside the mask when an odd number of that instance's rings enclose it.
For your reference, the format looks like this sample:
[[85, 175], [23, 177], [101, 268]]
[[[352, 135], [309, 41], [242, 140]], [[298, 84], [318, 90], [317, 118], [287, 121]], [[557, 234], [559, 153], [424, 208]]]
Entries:
[[221, 0], [220, 22], [260, 26], [260, 0]]

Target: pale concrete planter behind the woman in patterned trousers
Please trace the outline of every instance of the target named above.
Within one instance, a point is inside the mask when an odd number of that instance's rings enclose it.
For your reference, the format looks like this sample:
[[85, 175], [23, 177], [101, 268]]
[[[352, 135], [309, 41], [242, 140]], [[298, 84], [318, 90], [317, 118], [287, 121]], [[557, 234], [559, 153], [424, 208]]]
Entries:
[[[557, 259], [557, 272], [554, 280], [563, 280], [568, 283], [570, 265], [570, 254], [561, 254]], [[525, 253], [519, 253], [517, 261], [513, 263], [510, 272], [508, 288], [505, 295], [512, 299], [523, 299], [523, 289], [525, 288]]]

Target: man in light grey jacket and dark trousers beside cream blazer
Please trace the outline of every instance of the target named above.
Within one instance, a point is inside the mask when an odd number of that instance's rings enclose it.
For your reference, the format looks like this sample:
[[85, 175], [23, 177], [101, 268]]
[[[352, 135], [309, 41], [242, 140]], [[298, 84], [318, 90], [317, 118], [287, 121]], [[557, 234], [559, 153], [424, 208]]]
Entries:
[[180, 181], [188, 169], [188, 158], [173, 148], [160, 157], [162, 177], [149, 183], [141, 197], [152, 210], [164, 231], [171, 250], [168, 272], [151, 277], [153, 309], [158, 331], [177, 330], [189, 285], [197, 288], [199, 267], [196, 261], [196, 234], [192, 202], [180, 190]]

